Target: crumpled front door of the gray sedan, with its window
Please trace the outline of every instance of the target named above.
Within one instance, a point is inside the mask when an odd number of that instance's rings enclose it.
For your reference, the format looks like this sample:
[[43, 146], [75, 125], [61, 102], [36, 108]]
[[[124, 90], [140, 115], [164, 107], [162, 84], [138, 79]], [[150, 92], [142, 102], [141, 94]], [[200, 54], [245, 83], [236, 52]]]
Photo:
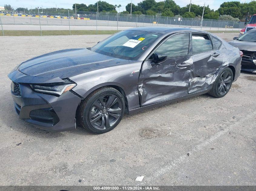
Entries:
[[168, 57], [160, 65], [149, 56], [138, 81], [141, 106], [188, 95], [192, 57], [188, 55], [189, 33], [169, 37], [153, 53]]

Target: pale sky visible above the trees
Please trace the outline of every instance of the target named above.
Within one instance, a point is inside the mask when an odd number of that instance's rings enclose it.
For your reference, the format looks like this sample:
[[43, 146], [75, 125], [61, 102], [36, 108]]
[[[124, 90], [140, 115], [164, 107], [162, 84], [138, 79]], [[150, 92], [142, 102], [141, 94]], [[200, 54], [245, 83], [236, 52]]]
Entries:
[[[35, 8], [35, 7], [43, 7], [43, 8], [52, 8], [57, 5], [57, 8], [71, 8], [74, 3], [84, 3], [86, 5], [94, 4], [97, 0], [1, 0], [0, 6], [4, 6], [4, 4], [10, 4], [13, 8], [17, 7], [25, 7], [25, 8]], [[120, 11], [125, 11], [125, 6], [128, 3], [131, 3], [130, 0], [102, 0], [106, 1], [112, 5], [121, 5]], [[132, 3], [137, 5], [142, 0], [132, 0]], [[163, 0], [156, 0], [156, 2]], [[184, 7], [190, 3], [190, 0], [174, 0], [177, 5]], [[191, 0], [192, 4], [196, 5], [209, 5], [210, 9], [218, 9], [223, 2], [227, 2], [230, 0]], [[239, 1], [239, 0], [237, 0]], [[241, 3], [250, 2], [250, 0], [240, 0]]]

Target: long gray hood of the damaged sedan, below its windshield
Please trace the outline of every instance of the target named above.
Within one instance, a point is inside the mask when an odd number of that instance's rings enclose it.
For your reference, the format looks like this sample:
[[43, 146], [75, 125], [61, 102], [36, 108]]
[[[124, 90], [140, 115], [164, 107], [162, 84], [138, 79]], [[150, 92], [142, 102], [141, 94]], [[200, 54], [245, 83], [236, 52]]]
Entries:
[[[21, 83], [31, 83], [33, 81], [35, 81], [34, 83], [61, 82], [61, 79], [74, 75], [129, 62], [134, 61], [105, 56], [88, 49], [66, 49], [22, 62], [18, 69], [12, 71], [8, 76], [12, 81]], [[26, 77], [25, 79], [24, 75], [28, 75], [30, 78]], [[20, 77], [23, 77], [22, 80], [17, 80]]]

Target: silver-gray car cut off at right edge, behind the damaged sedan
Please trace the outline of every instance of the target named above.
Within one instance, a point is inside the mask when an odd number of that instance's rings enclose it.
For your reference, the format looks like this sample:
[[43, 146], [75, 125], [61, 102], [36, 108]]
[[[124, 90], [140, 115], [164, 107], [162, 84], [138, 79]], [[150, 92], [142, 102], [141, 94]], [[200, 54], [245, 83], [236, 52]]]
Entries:
[[238, 47], [243, 52], [241, 70], [256, 73], [256, 29], [240, 37], [234, 37], [229, 44]]

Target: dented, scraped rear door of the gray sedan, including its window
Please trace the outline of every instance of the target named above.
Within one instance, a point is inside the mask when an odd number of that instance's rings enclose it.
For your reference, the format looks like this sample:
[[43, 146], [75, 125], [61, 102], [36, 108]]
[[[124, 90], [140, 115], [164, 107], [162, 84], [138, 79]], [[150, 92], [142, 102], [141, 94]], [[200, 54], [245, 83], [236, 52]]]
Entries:
[[221, 42], [218, 39], [212, 37], [214, 40], [211, 40], [208, 33], [191, 33], [190, 37], [193, 65], [188, 94], [207, 89], [223, 63], [223, 57], [218, 50]]

